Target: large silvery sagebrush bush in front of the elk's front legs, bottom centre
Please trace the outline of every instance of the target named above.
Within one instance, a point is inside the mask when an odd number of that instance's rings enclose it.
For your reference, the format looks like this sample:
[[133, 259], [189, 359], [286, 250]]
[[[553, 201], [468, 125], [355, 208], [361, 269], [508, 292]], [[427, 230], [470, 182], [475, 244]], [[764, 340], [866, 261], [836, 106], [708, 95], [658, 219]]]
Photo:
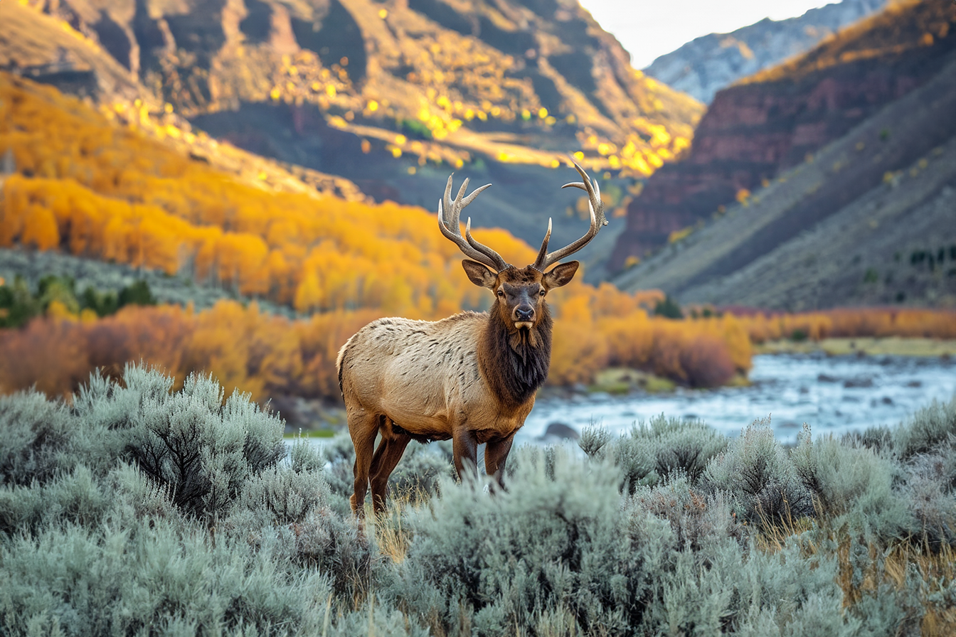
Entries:
[[507, 492], [467, 480], [406, 520], [413, 534], [392, 595], [445, 634], [500, 635], [570, 612], [585, 631], [640, 624], [664, 551], [646, 551], [619, 506], [619, 472], [558, 450], [512, 453]]

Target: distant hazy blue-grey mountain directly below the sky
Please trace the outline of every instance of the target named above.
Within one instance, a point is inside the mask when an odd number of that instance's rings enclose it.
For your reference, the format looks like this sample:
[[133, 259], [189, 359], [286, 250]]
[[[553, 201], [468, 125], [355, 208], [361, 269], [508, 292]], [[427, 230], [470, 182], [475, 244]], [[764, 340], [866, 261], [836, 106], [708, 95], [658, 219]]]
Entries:
[[813, 49], [840, 29], [879, 11], [887, 0], [843, 0], [786, 20], [764, 18], [729, 33], [710, 33], [658, 57], [645, 74], [705, 104], [737, 79]]

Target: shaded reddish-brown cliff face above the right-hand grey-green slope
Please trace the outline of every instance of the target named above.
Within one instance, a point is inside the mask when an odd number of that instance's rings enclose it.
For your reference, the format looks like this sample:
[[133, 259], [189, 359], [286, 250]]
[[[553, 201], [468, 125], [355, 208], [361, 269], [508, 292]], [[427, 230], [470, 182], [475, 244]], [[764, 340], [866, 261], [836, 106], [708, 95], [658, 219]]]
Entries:
[[627, 210], [609, 270], [667, 244], [781, 170], [812, 159], [923, 85], [956, 51], [956, 6], [894, 6], [811, 53], [717, 94], [689, 155], [651, 176]]

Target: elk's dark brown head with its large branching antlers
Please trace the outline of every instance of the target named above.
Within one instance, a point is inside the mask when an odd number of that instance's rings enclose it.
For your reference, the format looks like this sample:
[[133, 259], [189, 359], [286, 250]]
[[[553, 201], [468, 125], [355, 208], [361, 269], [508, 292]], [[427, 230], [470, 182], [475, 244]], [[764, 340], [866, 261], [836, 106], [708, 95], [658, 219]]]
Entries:
[[[548, 242], [551, 239], [552, 220], [548, 220], [548, 231], [545, 233], [537, 259], [532, 265], [519, 268], [508, 264], [501, 255], [487, 245], [479, 244], [471, 236], [471, 218], [467, 219], [465, 236], [461, 234], [459, 220], [462, 210], [483, 190], [491, 184], [475, 189], [465, 197], [468, 180], [462, 184], [458, 196], [451, 199], [451, 177], [448, 177], [445, 186], [445, 200], [438, 203], [438, 227], [445, 238], [454, 242], [470, 259], [462, 262], [468, 279], [476, 286], [488, 287], [495, 294], [495, 303], [490, 313], [512, 334], [512, 345], [516, 342], [529, 342], [535, 346], [537, 340], [536, 328], [542, 321], [548, 321], [548, 307], [544, 298], [554, 287], [567, 285], [575, 276], [578, 266], [576, 261], [554, 265], [559, 260], [573, 254], [584, 247], [597, 235], [602, 225], [607, 225], [604, 217], [604, 206], [600, 201], [600, 189], [597, 181], [591, 180], [575, 162], [577, 173], [582, 181], [565, 183], [562, 188], [569, 186], [580, 188], [588, 193], [588, 208], [591, 213], [591, 225], [583, 237], [575, 243], [566, 245], [554, 252], [548, 252]], [[464, 198], [464, 199], [463, 199]], [[443, 205], [444, 203], [444, 205]], [[445, 219], [445, 210], [449, 211], [449, 218]], [[548, 270], [548, 267], [554, 267]]]

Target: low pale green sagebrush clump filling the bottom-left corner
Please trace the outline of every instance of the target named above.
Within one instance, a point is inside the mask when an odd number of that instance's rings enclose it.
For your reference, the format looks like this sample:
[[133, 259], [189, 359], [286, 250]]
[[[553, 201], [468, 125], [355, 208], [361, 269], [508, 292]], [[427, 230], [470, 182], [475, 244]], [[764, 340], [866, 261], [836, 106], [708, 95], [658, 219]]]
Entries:
[[176, 618], [201, 634], [246, 626], [282, 635], [310, 617], [320, 629], [331, 586], [316, 570], [278, 568], [280, 551], [274, 535], [253, 547], [163, 522], [13, 538], [0, 545], [0, 631], [55, 621], [66, 635], [156, 634], [151, 627]]

